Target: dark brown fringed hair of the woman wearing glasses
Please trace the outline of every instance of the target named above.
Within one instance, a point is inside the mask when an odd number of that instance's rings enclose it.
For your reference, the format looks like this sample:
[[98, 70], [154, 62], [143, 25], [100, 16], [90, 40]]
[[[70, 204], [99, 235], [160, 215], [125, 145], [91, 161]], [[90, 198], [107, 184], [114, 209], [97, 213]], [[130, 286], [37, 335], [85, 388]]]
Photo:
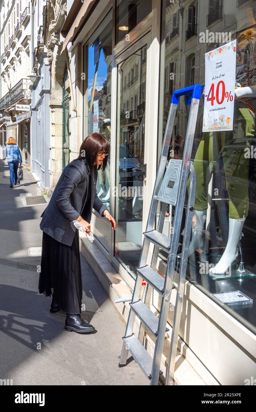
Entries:
[[99, 169], [105, 170], [108, 162], [108, 156], [105, 156], [101, 164], [95, 164], [97, 162], [97, 154], [101, 150], [104, 150], [104, 152], [110, 152], [110, 143], [104, 136], [102, 136], [102, 134], [91, 133], [85, 138], [85, 140], [83, 140], [79, 150], [79, 156], [75, 160], [82, 160], [83, 162], [86, 161], [91, 173], [94, 173], [95, 170]]

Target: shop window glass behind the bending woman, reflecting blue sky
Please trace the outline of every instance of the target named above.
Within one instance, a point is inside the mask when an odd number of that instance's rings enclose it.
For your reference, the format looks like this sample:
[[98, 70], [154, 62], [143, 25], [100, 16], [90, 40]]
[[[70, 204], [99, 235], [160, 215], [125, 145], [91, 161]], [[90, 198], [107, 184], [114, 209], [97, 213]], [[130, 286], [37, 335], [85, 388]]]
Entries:
[[[112, 10], [84, 46], [87, 57], [87, 84], [84, 89], [84, 138], [101, 133], [110, 142], [111, 74], [112, 74]], [[86, 64], [86, 63], [85, 63]], [[109, 210], [110, 157], [105, 171], [98, 171], [97, 195]]]

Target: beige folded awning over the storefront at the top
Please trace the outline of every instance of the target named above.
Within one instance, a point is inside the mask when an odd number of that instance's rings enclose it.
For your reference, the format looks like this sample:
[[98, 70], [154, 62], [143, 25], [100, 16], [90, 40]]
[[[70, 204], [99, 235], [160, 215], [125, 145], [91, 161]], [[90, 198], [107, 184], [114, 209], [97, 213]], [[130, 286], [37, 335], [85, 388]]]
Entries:
[[[82, 3], [83, 5], [81, 7], [81, 0], [74, 0], [74, 3], [69, 11], [69, 14], [67, 15], [67, 19], [65, 20], [65, 23], [63, 24], [62, 29], [60, 30], [62, 36], [65, 37], [61, 53], [65, 50], [69, 42], [71, 42], [74, 39], [80, 28], [83, 26], [83, 23], [85, 23], [88, 14], [92, 10], [92, 8], [97, 4], [97, 2], [98, 0], [85, 0]], [[78, 5], [78, 3], [80, 4]]]

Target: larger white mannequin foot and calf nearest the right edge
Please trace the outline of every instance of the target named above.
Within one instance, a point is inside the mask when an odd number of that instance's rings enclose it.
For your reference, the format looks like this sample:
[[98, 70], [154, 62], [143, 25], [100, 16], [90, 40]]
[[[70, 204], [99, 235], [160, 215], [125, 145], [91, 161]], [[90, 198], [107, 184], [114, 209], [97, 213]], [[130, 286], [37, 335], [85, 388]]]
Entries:
[[230, 272], [230, 265], [238, 256], [238, 242], [241, 236], [245, 219], [229, 218], [228, 243], [225, 252], [217, 265], [209, 270], [210, 273], [224, 274]]

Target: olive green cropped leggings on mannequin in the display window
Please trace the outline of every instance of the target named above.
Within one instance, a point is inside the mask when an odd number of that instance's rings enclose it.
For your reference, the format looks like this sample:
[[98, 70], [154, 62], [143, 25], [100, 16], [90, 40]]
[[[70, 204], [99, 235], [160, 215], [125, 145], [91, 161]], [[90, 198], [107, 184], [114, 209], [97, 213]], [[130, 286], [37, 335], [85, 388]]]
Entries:
[[[246, 218], [249, 209], [248, 166], [249, 159], [245, 149], [250, 147], [249, 137], [255, 132], [255, 118], [244, 103], [235, 101], [234, 123], [232, 131], [203, 133], [193, 162], [196, 172], [195, 210], [208, 208], [206, 174], [210, 162], [213, 161], [213, 138], [216, 139], [217, 155], [222, 156], [226, 188], [229, 197], [229, 217]], [[248, 140], [247, 140], [248, 139]], [[220, 150], [219, 150], [220, 148]], [[218, 161], [218, 158], [215, 160]], [[189, 189], [190, 178], [188, 181]], [[214, 189], [213, 189], [214, 191]]]

